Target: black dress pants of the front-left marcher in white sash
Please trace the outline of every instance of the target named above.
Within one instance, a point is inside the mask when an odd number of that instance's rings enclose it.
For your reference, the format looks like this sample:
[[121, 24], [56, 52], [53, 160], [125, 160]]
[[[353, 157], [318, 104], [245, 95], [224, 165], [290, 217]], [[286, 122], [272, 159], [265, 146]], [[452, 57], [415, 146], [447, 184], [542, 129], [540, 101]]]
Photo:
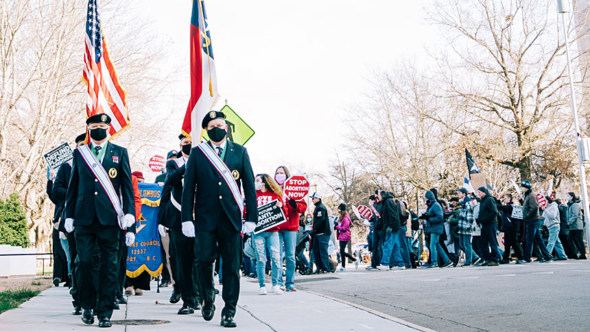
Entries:
[[[113, 304], [117, 292], [117, 276], [119, 264], [119, 226], [104, 226], [95, 219], [88, 226], [75, 226], [76, 251], [80, 281], [79, 298], [82, 309], [93, 309], [98, 296], [96, 308], [98, 318], [109, 318], [113, 315]], [[95, 268], [95, 247], [99, 249], [99, 266]], [[93, 275], [98, 273], [98, 285]]]

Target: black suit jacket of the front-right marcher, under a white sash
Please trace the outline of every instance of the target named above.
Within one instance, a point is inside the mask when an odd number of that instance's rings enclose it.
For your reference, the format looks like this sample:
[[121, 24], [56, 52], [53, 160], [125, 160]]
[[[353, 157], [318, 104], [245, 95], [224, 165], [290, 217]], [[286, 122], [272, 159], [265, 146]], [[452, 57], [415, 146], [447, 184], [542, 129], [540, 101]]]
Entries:
[[[227, 141], [224, 163], [239, 173], [237, 187], [246, 196], [246, 221], [258, 222], [254, 173], [246, 148]], [[193, 214], [193, 208], [195, 213]], [[194, 221], [195, 230], [211, 232], [217, 227], [222, 210], [235, 229], [241, 231], [241, 214], [231, 191], [198, 147], [193, 147], [186, 165], [182, 190], [182, 222]]]

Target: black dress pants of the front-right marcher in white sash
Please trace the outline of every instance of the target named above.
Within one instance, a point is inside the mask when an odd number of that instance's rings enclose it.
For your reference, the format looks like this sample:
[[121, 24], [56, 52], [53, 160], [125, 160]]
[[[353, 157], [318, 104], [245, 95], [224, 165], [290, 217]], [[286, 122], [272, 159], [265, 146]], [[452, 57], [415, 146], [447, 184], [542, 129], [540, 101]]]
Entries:
[[241, 235], [225, 211], [221, 212], [215, 230], [212, 232], [196, 231], [194, 250], [197, 261], [197, 282], [202, 303], [209, 305], [215, 300], [213, 263], [221, 254], [222, 298], [225, 303], [222, 316], [235, 316], [237, 299], [239, 298], [239, 268], [244, 249], [242, 248]]

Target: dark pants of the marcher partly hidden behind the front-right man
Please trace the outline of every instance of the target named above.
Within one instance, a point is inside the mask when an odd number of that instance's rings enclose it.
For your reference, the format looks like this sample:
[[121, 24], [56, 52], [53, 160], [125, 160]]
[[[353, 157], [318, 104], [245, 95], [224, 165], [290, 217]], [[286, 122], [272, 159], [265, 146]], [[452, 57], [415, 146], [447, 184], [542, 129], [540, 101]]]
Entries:
[[[180, 291], [182, 303], [194, 308], [198, 299], [197, 275], [195, 269], [195, 238], [185, 237], [180, 230], [170, 230], [170, 246], [174, 248], [174, 262], [176, 262], [175, 285]], [[172, 257], [171, 257], [172, 258]]]

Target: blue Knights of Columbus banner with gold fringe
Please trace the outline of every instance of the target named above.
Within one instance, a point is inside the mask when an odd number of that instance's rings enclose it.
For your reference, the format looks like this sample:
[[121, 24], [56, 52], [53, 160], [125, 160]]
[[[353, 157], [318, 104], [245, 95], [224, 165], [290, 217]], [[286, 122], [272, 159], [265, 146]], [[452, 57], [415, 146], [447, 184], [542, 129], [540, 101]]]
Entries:
[[141, 214], [137, 221], [135, 243], [128, 248], [127, 276], [134, 278], [146, 271], [151, 276], [162, 272], [158, 209], [162, 187], [155, 183], [139, 183]]

